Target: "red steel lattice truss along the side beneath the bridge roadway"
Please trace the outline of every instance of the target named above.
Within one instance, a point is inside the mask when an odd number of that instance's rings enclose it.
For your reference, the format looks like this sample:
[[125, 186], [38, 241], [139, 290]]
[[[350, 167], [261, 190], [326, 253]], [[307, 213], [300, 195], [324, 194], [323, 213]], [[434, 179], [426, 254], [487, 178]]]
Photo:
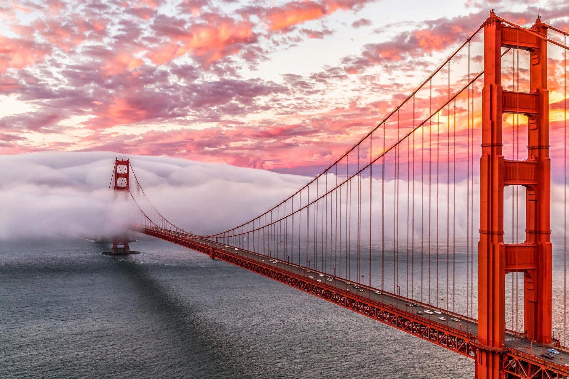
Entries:
[[[476, 352], [480, 348], [480, 344], [477, 341], [477, 337], [471, 333], [430, 322], [430, 320], [416, 316], [413, 313], [397, 309], [393, 305], [382, 304], [325, 283], [307, 280], [296, 273], [248, 259], [237, 253], [192, 241], [190, 236], [183, 237], [167, 230], [157, 230], [157, 228], [144, 226], [135, 226], [133, 230], [195, 250], [208, 255], [211, 259], [218, 259], [239, 266], [395, 327], [398, 330], [457, 352], [460, 355], [477, 359]], [[269, 256], [259, 253], [248, 253], [270, 259]], [[569, 377], [569, 367], [551, 363], [515, 349], [505, 348], [502, 351], [501, 359], [504, 362], [504, 370], [509, 378], [555, 379]]]

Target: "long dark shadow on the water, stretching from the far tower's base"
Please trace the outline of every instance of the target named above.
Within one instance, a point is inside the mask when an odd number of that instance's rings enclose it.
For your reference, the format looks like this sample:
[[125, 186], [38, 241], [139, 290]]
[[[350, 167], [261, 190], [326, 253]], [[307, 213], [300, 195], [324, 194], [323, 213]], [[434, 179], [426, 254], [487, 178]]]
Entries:
[[[150, 359], [149, 364], [157, 374], [167, 372], [168, 377], [248, 378], [259, 377], [265, 372], [262, 360], [252, 353], [249, 346], [244, 345], [244, 341], [233, 340], [231, 335], [222, 334], [220, 330], [223, 328], [204, 317], [197, 310], [199, 305], [192, 305], [191, 298], [176, 294], [156, 278], [146, 264], [135, 263], [129, 258], [123, 257], [117, 262], [118, 265], [113, 266], [118, 268], [141, 297], [139, 303], [143, 308], [138, 311], [147, 312], [152, 316], [152, 324], [160, 325], [160, 330], [155, 331], [160, 336], [167, 334], [164, 349], [168, 351], [157, 354], [162, 357], [160, 360]], [[118, 257], [110, 259], [118, 260]], [[164, 268], [164, 265], [155, 266], [162, 270]], [[165, 365], [164, 371], [162, 368]]]

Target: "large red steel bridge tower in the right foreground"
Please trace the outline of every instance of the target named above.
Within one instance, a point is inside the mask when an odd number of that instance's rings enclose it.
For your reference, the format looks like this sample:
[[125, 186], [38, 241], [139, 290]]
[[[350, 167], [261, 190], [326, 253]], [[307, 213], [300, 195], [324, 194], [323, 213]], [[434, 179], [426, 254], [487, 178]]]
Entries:
[[[534, 33], [532, 33], [534, 32]], [[477, 377], [502, 378], [505, 349], [505, 276], [523, 272], [523, 334], [551, 343], [551, 242], [549, 95], [547, 28], [537, 19], [531, 29], [502, 24], [490, 15], [484, 26], [482, 156], [480, 160], [479, 335]], [[506, 91], [501, 85], [502, 47], [530, 54], [530, 91]], [[502, 115], [524, 114], [527, 160], [502, 155]], [[526, 189], [526, 239], [504, 243], [504, 188]]]

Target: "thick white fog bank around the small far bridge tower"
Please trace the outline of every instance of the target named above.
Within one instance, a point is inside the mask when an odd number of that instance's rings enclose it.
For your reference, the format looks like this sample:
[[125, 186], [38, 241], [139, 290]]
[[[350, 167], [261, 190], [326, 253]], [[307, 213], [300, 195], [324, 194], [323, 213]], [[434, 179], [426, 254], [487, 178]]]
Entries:
[[[108, 190], [115, 157], [130, 157], [152, 203], [174, 223], [212, 232], [273, 206], [306, 177], [112, 152], [0, 156], [0, 239], [110, 235], [136, 218]], [[199, 201], [188, 201], [199, 199]]]

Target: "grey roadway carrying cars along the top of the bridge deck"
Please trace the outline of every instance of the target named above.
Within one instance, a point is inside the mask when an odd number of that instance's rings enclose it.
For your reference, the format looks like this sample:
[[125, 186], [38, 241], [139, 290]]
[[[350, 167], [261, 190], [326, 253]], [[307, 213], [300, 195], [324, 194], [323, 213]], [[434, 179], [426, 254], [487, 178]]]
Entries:
[[[192, 236], [180, 232], [164, 230], [158, 227], [134, 227], [133, 229], [135, 231], [143, 232], [145, 234], [148, 234], [145, 230], [155, 230], [160, 234], [164, 234], [164, 232], [166, 232], [167, 234], [176, 236], [177, 238], [187, 241], [193, 241], [194, 243], [197, 243], [202, 246], [211, 247], [213, 249], [216, 249], [217, 251], [224, 251], [232, 255], [238, 255], [244, 257], [245, 259], [250, 261], [257, 261], [258, 263], [261, 264], [275, 266], [276, 268], [282, 270], [283, 272], [294, 273], [298, 276], [302, 276], [307, 281], [314, 281], [316, 283], [320, 283], [318, 282], [318, 280], [321, 280], [322, 284], [332, 286], [333, 288], [337, 288], [341, 291], [345, 291], [352, 295], [364, 297], [365, 299], [369, 299], [370, 301], [379, 303], [381, 305], [393, 306], [395, 309], [405, 311], [406, 313], [413, 313], [415, 314], [416, 319], [428, 320], [428, 324], [439, 324], [441, 326], [446, 327], [446, 329], [450, 331], [463, 332], [463, 334], [464, 332], [471, 334], [473, 342], [476, 343], [476, 335], [478, 332], [478, 324], [476, 319], [467, 318], [463, 315], [452, 313], [448, 310], [440, 309], [437, 307], [433, 307], [426, 303], [420, 303], [413, 299], [408, 299], [399, 295], [395, 295], [384, 290], [380, 290], [377, 288], [370, 288], [369, 286], [357, 284], [354, 282], [349, 282], [344, 278], [336, 277], [324, 272], [319, 272], [318, 270], [306, 268], [304, 266], [299, 266], [297, 264], [290, 263], [287, 261], [281, 261], [279, 259], [265, 256], [260, 253], [251, 252], [241, 248], [222, 244], [213, 240], [200, 238], [199, 236]], [[311, 278], [311, 276], [313, 276], [313, 278]], [[332, 278], [332, 281], [327, 281], [327, 278]], [[358, 288], [354, 288], [354, 286], [357, 286]], [[359, 291], [360, 289], [363, 291]], [[413, 304], [413, 306], [410, 306], [408, 304]], [[414, 306], [414, 304], [417, 304], [419, 306]], [[435, 313], [431, 315], [424, 313], [425, 310], [431, 310], [431, 311], [436, 310], [440, 311], [441, 314]], [[417, 312], [419, 311], [422, 314], [418, 314]], [[446, 320], [441, 320], [439, 319], [440, 317], [444, 317]], [[453, 321], [451, 320], [451, 318], [457, 318], [459, 320]], [[562, 370], [564, 373], [569, 373], [569, 351], [567, 351], [566, 349], [556, 348], [559, 351], [559, 354], [558, 355], [554, 354], [553, 360], [545, 359], [541, 355], [543, 352], [546, 352], [547, 349], [551, 348], [551, 346], [547, 345], [543, 346], [537, 343], [532, 344], [531, 341], [521, 338], [519, 335], [516, 335], [514, 334], [514, 332], [511, 331], [506, 331], [505, 345], [507, 348], [509, 348], [511, 351], [514, 352], [514, 355], [516, 355], [515, 352], [517, 351], [524, 353], [523, 354], [524, 356], [537, 357], [538, 360], [545, 361], [544, 363], [546, 363], [546, 366], [550, 366], [547, 365], [547, 363], [549, 362], [554, 364], [554, 366], [556, 366], [555, 367], [556, 371], [559, 372], [559, 370]], [[533, 348], [531, 348], [531, 345], [533, 345]], [[567, 364], [567, 366], [565, 366], [565, 364]], [[567, 377], [569, 377], [569, 374]]]

